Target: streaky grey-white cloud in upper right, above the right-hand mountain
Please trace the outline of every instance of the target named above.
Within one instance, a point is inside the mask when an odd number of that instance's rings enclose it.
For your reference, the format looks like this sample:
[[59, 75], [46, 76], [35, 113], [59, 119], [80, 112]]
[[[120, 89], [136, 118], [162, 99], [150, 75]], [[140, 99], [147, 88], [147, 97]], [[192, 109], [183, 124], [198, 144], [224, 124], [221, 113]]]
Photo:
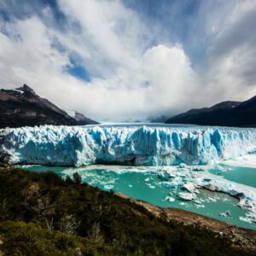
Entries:
[[256, 94], [256, 3], [240, 1], [207, 49], [203, 79], [214, 98], [244, 100]]

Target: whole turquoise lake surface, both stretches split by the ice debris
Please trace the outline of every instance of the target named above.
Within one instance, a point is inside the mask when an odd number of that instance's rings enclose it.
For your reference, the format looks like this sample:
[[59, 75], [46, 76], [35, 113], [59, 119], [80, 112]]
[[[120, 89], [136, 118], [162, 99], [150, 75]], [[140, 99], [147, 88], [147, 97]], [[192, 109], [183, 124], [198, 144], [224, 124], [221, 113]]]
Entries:
[[[241, 207], [237, 207], [238, 200], [236, 198], [223, 193], [200, 189], [195, 201], [183, 201], [177, 196], [182, 188], [180, 186], [172, 187], [166, 183], [166, 181], [172, 180], [172, 177], [163, 178], [158, 171], [151, 170], [150, 167], [115, 166], [110, 168], [109, 166], [87, 166], [85, 168], [67, 168], [24, 166], [24, 168], [33, 172], [54, 171], [61, 177], [67, 175], [72, 177], [74, 172], [78, 172], [84, 183], [89, 183], [103, 190], [113, 189], [115, 192], [147, 201], [158, 207], [176, 207], [256, 230], [256, 223], [244, 221], [246, 212]], [[209, 172], [218, 177], [220, 169], [222, 170], [221, 175], [226, 179], [255, 188], [256, 169], [220, 166], [211, 169]], [[228, 171], [223, 172], [224, 169]]]

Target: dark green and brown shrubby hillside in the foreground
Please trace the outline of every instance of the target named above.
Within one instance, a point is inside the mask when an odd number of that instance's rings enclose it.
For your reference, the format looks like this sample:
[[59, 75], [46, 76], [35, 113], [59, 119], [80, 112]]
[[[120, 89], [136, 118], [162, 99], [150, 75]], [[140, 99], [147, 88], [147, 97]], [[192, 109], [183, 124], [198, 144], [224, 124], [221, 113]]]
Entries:
[[0, 172], [0, 255], [250, 255], [54, 172]]

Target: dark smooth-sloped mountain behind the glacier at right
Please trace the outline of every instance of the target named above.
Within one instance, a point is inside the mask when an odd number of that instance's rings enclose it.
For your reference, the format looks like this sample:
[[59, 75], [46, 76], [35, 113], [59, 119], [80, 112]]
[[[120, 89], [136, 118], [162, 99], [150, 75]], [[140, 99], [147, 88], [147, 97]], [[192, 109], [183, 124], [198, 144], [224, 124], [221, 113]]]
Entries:
[[221, 102], [211, 108], [190, 109], [166, 124], [256, 127], [256, 96], [245, 102]]

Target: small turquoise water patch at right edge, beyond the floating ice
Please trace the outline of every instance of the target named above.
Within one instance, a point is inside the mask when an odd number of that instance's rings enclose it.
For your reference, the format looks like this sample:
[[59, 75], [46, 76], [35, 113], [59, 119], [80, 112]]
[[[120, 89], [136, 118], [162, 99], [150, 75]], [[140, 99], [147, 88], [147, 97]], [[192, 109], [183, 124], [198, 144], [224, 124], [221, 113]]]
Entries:
[[241, 183], [256, 188], [256, 168], [236, 167], [236, 166], [219, 166], [209, 172], [220, 175], [227, 180], [235, 183]]

